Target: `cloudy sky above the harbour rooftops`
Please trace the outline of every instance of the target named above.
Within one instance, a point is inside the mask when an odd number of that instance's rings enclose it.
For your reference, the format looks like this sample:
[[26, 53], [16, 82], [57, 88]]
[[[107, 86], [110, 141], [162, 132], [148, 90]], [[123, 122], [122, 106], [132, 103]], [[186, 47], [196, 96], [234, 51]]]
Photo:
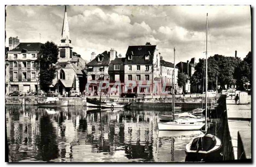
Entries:
[[[6, 46], [10, 36], [20, 42], [59, 43], [64, 6], [7, 6]], [[165, 60], [203, 57], [208, 12], [209, 55], [244, 58], [251, 51], [250, 6], [67, 6], [73, 51], [90, 60], [114, 48], [123, 56], [129, 45], [157, 44]]]

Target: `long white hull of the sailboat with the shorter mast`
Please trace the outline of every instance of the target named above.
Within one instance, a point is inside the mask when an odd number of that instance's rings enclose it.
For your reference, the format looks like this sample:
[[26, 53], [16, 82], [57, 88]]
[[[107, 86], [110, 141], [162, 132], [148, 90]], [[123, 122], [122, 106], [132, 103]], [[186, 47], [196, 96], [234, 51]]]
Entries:
[[182, 131], [182, 130], [200, 130], [204, 124], [202, 122], [195, 122], [193, 124], [180, 124], [177, 122], [161, 122], [158, 123], [159, 130], [172, 130], [172, 131]]

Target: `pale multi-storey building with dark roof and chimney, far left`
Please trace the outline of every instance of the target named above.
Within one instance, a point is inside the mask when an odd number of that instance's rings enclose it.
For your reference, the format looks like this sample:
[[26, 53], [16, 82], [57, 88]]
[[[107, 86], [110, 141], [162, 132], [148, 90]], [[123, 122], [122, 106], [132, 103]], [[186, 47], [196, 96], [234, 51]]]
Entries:
[[42, 43], [21, 42], [18, 37], [9, 38], [9, 51], [6, 61], [9, 62], [6, 72], [7, 93], [15, 90], [21, 92], [36, 91], [38, 89], [37, 59]]

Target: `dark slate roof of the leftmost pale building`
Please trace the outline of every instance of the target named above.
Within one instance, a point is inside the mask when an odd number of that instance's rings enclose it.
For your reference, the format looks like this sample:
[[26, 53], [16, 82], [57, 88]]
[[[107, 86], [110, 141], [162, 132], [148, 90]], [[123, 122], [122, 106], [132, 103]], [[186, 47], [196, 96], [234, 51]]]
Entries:
[[[29, 46], [28, 46], [29, 45]], [[43, 43], [39, 42], [22, 42], [19, 43], [14, 49], [10, 50], [11, 52], [21, 52], [22, 50], [26, 50], [28, 52], [39, 52], [41, 45]]]

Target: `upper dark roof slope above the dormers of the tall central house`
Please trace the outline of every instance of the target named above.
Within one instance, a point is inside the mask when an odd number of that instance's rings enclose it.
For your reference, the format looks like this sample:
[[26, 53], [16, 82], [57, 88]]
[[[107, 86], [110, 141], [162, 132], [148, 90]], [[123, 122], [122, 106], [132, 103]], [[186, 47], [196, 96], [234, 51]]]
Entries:
[[129, 46], [126, 55], [153, 55], [156, 45], [132, 45]]

